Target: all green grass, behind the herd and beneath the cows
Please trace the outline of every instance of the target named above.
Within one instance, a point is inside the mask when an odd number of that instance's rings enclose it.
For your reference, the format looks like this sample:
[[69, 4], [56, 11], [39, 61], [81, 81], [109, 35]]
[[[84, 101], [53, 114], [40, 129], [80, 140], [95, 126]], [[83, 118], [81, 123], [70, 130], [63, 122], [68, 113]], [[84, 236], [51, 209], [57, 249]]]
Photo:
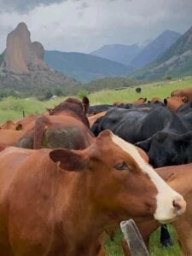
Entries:
[[[125, 90], [102, 90], [96, 93], [90, 94], [90, 105], [101, 103], [113, 103], [113, 102], [132, 102], [139, 97], [147, 97], [148, 100], [154, 96], [165, 98], [170, 96], [172, 90], [180, 88], [192, 87], [192, 77], [183, 78], [181, 81], [174, 80], [168, 82], [159, 82], [153, 84], [140, 85], [142, 88], [141, 93], [136, 92], [136, 88], [127, 88]], [[33, 98], [29, 99], [15, 99], [13, 97], [5, 98], [0, 101], [0, 122], [8, 119], [21, 119], [22, 112], [25, 111], [26, 115], [30, 113], [42, 113], [46, 108], [53, 108], [58, 103], [62, 102], [64, 97], [58, 97], [55, 100], [49, 100], [48, 102], [38, 102]], [[176, 234], [172, 227], [169, 229], [172, 233], [172, 240], [174, 246], [168, 250], [160, 247], [160, 234], [159, 230], [155, 231], [150, 240], [150, 253], [152, 256], [178, 256], [179, 247], [177, 245]], [[120, 256], [122, 255], [121, 248], [119, 247], [119, 240], [121, 237], [120, 230], [117, 231], [115, 240], [111, 242], [109, 239], [106, 241], [106, 247], [108, 256]]]

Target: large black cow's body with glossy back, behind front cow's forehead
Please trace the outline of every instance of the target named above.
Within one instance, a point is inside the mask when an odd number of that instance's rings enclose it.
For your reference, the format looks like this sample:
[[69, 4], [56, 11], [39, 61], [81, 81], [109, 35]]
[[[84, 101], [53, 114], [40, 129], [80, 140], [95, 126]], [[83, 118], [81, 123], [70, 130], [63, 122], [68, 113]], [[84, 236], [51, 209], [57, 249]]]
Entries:
[[157, 131], [184, 133], [187, 129], [175, 113], [164, 107], [123, 109], [111, 108], [97, 119], [91, 130], [97, 136], [109, 129], [130, 143], [148, 139]]

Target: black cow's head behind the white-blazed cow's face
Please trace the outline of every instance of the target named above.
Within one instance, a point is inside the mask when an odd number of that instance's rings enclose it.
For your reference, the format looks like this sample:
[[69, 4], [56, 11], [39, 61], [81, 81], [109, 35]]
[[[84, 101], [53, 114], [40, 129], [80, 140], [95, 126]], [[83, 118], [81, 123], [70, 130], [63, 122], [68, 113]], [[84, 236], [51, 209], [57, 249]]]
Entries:
[[192, 131], [184, 134], [158, 131], [136, 145], [148, 154], [154, 168], [187, 164], [192, 161]]

